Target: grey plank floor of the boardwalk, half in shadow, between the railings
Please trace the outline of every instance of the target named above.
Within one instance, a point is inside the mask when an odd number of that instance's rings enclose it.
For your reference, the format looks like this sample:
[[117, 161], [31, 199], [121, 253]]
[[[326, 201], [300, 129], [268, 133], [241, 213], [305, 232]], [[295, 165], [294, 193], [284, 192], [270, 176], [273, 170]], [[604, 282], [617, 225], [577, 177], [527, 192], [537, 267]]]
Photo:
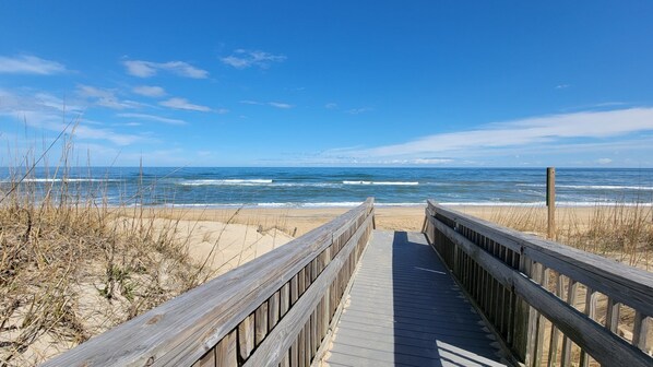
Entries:
[[501, 366], [495, 338], [424, 234], [375, 230], [330, 366]]

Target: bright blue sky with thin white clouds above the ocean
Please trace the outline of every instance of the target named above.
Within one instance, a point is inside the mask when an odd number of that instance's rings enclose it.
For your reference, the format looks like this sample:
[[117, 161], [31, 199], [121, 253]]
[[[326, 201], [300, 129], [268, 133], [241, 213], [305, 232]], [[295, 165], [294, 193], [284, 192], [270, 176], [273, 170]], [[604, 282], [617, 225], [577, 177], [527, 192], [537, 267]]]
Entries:
[[0, 165], [653, 167], [651, 1], [0, 1]]

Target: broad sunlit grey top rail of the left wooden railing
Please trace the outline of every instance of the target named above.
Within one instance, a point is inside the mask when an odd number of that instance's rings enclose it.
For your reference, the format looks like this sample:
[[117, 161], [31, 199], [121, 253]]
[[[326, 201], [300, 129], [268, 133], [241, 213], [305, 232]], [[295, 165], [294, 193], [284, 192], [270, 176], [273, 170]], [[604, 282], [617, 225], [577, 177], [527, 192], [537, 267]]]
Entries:
[[305, 236], [91, 339], [45, 366], [190, 366], [331, 246], [334, 230], [354, 217], [367, 215], [372, 203], [368, 200]]

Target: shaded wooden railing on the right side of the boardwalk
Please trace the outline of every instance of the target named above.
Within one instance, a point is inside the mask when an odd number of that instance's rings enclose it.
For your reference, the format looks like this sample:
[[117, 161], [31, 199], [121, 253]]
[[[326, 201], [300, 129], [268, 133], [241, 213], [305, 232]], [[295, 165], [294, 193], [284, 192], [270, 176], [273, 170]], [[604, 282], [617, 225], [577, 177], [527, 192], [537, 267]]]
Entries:
[[518, 363], [653, 366], [652, 273], [434, 201], [426, 217], [429, 241]]

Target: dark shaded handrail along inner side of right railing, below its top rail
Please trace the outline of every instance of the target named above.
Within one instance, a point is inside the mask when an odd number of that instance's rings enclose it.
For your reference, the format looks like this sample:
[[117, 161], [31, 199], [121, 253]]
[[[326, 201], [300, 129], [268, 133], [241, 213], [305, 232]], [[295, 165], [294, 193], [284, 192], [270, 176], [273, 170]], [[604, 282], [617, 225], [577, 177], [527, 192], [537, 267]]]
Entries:
[[524, 277], [500, 260], [480, 250], [475, 244], [455, 233], [446, 224], [434, 217], [429, 220], [438, 230], [444, 233], [458, 246], [467, 251], [496, 280], [506, 286], [512, 287], [517, 294], [554, 322], [561, 332], [601, 364], [642, 367], [651, 364], [652, 358], [639, 348], [628, 344], [618, 335], [606, 332], [603, 327], [590, 320], [575, 308], [570, 307], [530, 279]]

